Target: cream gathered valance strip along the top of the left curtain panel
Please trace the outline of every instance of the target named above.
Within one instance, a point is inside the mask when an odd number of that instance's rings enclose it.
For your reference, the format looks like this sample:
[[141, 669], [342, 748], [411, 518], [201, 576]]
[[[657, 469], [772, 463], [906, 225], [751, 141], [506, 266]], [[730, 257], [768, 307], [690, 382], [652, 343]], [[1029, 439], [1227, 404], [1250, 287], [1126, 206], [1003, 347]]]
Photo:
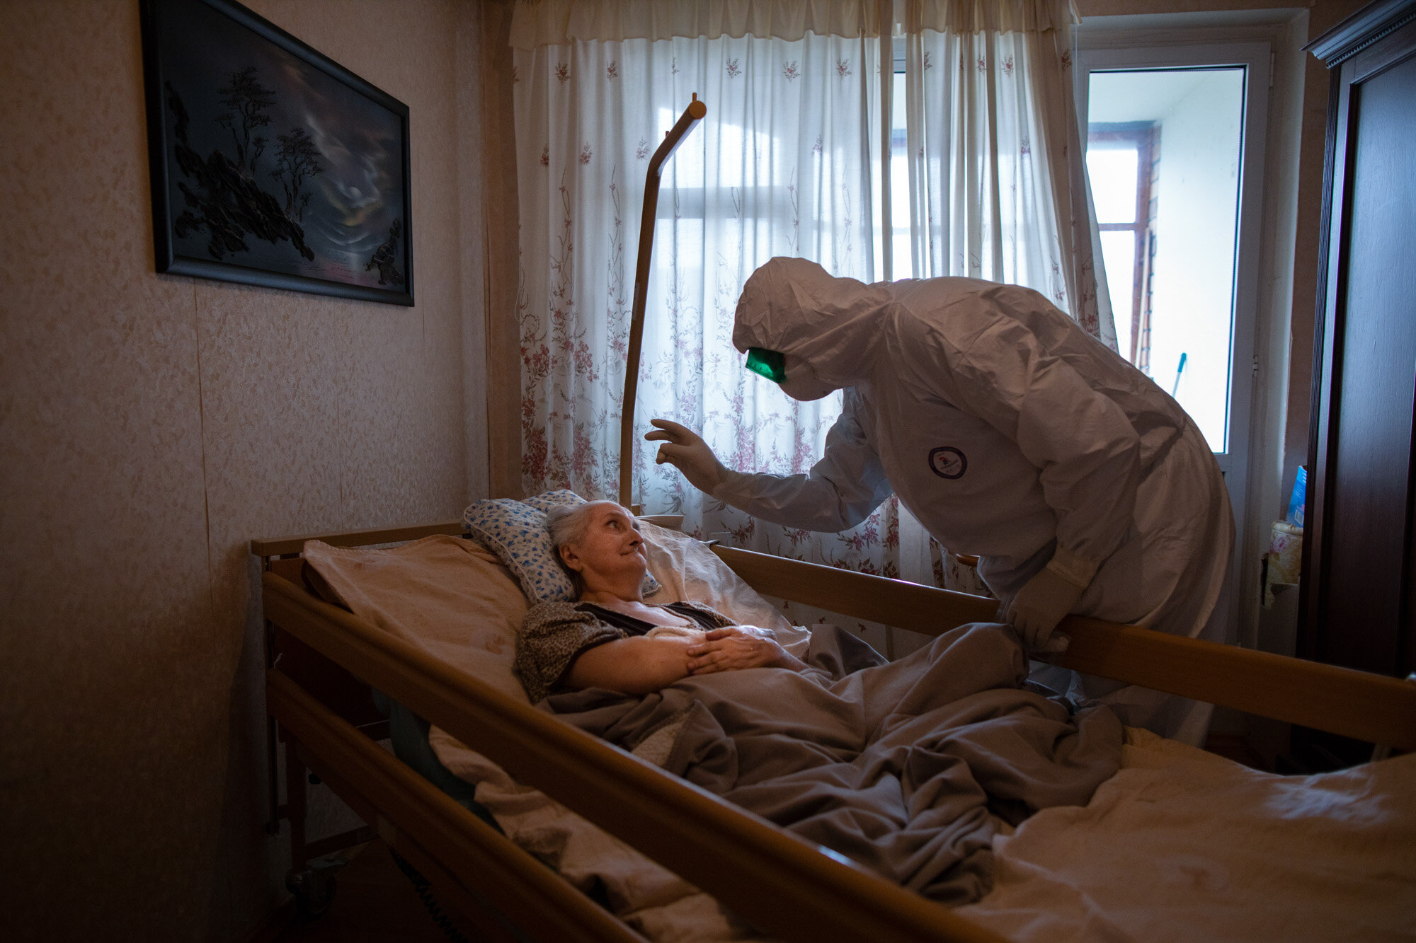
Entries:
[[517, 3], [511, 45], [694, 37], [800, 40], [879, 35], [877, 0], [532, 0]]

